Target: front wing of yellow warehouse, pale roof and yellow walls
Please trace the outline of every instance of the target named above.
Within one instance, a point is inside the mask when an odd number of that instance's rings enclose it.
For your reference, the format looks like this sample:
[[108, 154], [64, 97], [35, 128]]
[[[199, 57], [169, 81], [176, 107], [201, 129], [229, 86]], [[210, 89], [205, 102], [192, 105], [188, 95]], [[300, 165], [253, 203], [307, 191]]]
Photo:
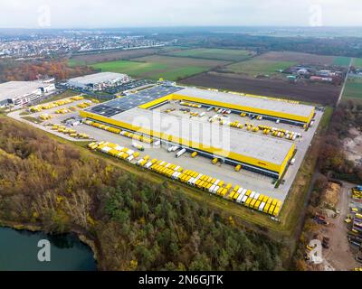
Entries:
[[169, 144], [179, 144], [200, 155], [218, 157], [224, 163], [242, 164], [244, 169], [276, 178], [284, 172], [295, 148], [295, 144], [285, 140], [254, 135], [195, 118], [156, 114], [138, 107], [111, 118], [91, 113], [87, 113], [87, 117], [138, 135], [149, 135]]

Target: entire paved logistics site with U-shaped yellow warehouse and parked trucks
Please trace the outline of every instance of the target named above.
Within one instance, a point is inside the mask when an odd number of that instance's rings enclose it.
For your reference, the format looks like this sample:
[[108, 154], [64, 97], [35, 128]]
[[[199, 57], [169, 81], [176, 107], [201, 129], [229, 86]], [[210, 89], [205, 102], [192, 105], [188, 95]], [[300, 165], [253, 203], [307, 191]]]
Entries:
[[272, 219], [323, 115], [296, 101], [165, 84], [102, 103], [71, 102], [30, 107], [41, 119], [33, 126]]

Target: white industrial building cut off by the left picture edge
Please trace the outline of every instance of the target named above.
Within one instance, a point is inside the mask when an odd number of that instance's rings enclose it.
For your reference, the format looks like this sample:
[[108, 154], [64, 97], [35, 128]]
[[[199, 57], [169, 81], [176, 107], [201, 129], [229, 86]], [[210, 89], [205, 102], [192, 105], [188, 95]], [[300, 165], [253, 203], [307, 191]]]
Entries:
[[55, 91], [52, 80], [9, 81], [0, 83], [0, 107], [23, 106], [44, 94]]

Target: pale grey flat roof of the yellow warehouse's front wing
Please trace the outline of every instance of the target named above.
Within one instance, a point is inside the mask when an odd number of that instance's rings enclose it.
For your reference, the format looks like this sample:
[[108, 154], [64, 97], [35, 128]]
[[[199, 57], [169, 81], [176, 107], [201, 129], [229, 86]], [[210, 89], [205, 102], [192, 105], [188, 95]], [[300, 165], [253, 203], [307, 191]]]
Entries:
[[271, 136], [258, 135], [230, 126], [220, 126], [195, 118], [175, 117], [142, 108], [132, 108], [111, 119], [133, 126], [152, 129], [180, 137], [203, 146], [243, 154], [269, 163], [281, 164], [291, 151], [292, 142]]

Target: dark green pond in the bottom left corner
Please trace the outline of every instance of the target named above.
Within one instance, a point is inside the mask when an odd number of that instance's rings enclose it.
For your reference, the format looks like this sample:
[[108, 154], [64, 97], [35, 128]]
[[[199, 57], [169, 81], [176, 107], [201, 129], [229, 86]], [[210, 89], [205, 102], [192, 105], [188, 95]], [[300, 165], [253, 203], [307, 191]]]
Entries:
[[[51, 243], [51, 261], [38, 261], [38, 241]], [[67, 234], [50, 236], [42, 232], [0, 228], [0, 271], [93, 271], [96, 262], [90, 247], [79, 238]]]

